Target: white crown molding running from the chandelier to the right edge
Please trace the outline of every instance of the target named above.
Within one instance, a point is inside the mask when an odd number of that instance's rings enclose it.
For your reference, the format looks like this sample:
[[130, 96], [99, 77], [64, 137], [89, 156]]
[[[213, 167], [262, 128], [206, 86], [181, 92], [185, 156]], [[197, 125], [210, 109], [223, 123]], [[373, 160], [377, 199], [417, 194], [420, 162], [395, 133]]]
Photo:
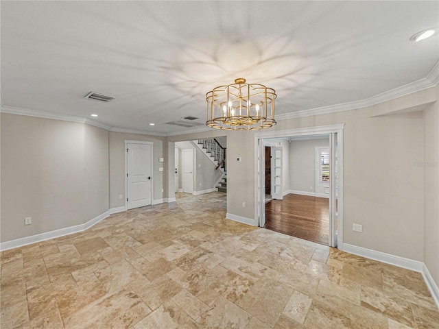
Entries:
[[412, 93], [416, 93], [420, 90], [431, 88], [439, 84], [439, 61], [433, 66], [433, 69], [429, 72], [427, 77], [405, 84], [398, 88], [385, 91], [384, 93], [362, 99], [360, 101], [351, 101], [349, 103], [336, 104], [331, 106], [323, 106], [322, 108], [311, 108], [309, 110], [302, 110], [298, 112], [278, 114], [276, 120], [295, 119], [302, 117], [310, 117], [317, 114], [328, 114], [333, 112], [341, 112], [347, 110], [355, 110], [358, 108], [367, 108], [368, 106], [374, 106], [384, 101], [390, 101], [398, 97], [403, 97]]

